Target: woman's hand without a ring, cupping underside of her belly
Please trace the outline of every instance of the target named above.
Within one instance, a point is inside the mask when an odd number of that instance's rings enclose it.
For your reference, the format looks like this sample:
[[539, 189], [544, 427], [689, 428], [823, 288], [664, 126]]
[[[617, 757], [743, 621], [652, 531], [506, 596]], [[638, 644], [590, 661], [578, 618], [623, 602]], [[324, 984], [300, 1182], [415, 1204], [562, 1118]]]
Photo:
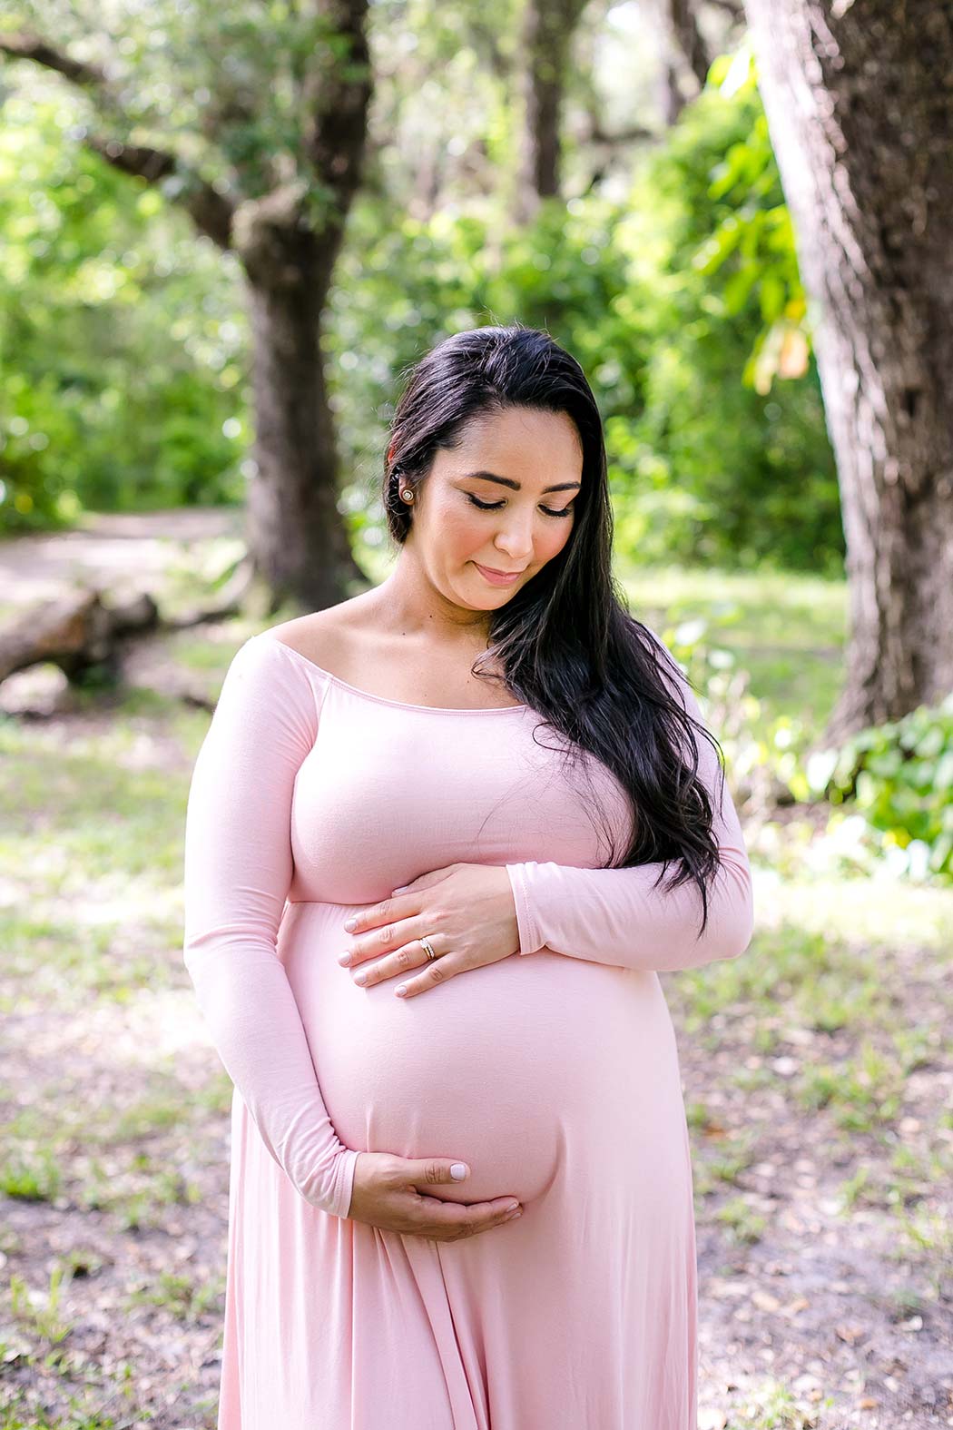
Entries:
[[[421, 1195], [421, 1187], [439, 1187], [444, 1183], [459, 1187], [460, 1180], [450, 1175], [454, 1165], [459, 1167], [460, 1163], [450, 1157], [359, 1153], [347, 1218], [367, 1221], [381, 1231], [400, 1231], [401, 1236], [460, 1241], [520, 1214], [523, 1208], [514, 1197], [463, 1203]], [[513, 1208], [519, 1211], [514, 1213]]]

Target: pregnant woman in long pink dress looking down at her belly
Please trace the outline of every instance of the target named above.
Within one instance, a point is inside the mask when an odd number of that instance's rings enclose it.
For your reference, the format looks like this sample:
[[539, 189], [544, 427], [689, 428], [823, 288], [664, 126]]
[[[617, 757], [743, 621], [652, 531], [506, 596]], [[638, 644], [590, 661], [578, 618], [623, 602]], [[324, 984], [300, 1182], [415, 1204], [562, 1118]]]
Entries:
[[613, 585], [569, 353], [451, 336], [390, 438], [390, 576], [240, 646], [189, 797], [219, 1430], [696, 1430], [659, 971], [752, 937], [717, 745]]

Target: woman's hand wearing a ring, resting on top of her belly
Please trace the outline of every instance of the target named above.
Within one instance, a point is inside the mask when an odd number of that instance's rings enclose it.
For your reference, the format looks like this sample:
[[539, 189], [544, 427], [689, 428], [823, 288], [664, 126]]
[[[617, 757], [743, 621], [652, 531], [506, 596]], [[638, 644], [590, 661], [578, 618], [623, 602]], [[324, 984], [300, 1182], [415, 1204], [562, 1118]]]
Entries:
[[[361, 987], [420, 968], [394, 990], [411, 998], [467, 968], [519, 952], [513, 887], [503, 865], [449, 864], [401, 889], [350, 915], [356, 924], [346, 930], [350, 944], [339, 962], [360, 964], [354, 982]], [[427, 961], [421, 937], [430, 940], [436, 958]]]

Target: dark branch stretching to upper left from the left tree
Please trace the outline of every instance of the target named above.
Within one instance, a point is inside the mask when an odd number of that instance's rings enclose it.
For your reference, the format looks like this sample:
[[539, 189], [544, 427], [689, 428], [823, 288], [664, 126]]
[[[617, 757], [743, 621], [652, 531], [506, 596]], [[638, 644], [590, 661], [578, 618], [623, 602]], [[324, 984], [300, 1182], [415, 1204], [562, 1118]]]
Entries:
[[[43, 66], [43, 69], [63, 74], [73, 84], [93, 90], [97, 99], [104, 102], [120, 117], [124, 117], [114, 96], [110, 93], [109, 80], [99, 66], [74, 60], [61, 50], [56, 50], [51, 44], [47, 44], [40, 36], [26, 31], [0, 31], [0, 53], [17, 60], [33, 60], [36, 64]], [[146, 183], [154, 184], [160, 179], [177, 174], [181, 180], [180, 184], [166, 186], [166, 196], [184, 207], [196, 227], [206, 237], [217, 243], [219, 247], [227, 249], [231, 246], [234, 204], [204, 179], [200, 179], [174, 153], [153, 149], [147, 144], [129, 144], [121, 139], [104, 139], [89, 130], [84, 133], [84, 143], [87, 149], [91, 149], [106, 163], [119, 169], [120, 173], [144, 179]]]

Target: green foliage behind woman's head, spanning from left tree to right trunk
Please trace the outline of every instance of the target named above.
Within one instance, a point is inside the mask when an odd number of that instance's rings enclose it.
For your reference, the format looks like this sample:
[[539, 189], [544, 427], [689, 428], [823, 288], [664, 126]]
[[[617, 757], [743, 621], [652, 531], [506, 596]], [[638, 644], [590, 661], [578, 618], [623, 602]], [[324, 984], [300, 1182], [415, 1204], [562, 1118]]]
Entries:
[[[373, 511], [381, 388], [447, 332], [514, 319], [573, 352], [606, 423], [617, 546], [639, 563], [843, 569], [836, 468], [787, 207], [752, 76], [710, 84], [630, 194], [493, 212], [351, 212], [327, 345], [354, 529]], [[737, 66], [736, 66], [737, 69]], [[369, 432], [369, 413], [377, 428]]]

